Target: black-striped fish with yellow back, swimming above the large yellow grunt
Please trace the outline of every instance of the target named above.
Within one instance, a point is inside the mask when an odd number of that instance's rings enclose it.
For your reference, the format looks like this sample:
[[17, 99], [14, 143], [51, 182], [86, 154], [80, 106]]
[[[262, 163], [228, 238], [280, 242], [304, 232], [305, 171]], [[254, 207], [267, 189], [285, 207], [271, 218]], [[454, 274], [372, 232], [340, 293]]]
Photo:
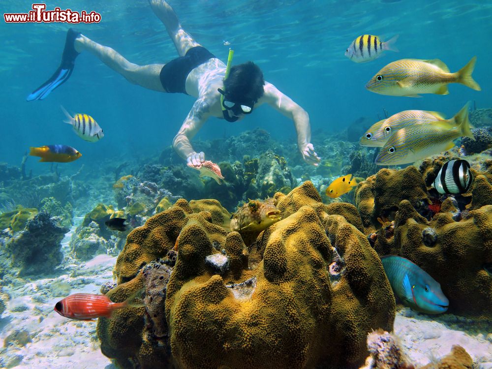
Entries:
[[352, 41], [347, 50], [345, 50], [345, 56], [356, 63], [370, 62], [379, 58], [385, 50], [398, 51], [394, 46], [398, 36], [397, 34], [392, 39], [383, 42], [378, 36], [363, 34]]

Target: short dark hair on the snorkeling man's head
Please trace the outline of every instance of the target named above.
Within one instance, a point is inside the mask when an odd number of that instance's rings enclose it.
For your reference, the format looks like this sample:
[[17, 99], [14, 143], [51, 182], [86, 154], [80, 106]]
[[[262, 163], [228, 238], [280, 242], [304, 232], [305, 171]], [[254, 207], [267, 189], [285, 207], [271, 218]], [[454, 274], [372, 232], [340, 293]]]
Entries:
[[224, 80], [224, 89], [231, 101], [258, 101], [263, 96], [263, 85], [263, 72], [253, 62], [232, 66], [229, 77]]

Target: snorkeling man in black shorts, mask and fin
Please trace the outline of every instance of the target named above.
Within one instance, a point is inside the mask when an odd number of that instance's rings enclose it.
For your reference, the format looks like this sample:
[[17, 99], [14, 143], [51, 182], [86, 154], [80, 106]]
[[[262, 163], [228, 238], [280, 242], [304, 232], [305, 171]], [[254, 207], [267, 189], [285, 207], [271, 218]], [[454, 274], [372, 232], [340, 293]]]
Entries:
[[216, 117], [235, 122], [251, 113], [253, 108], [267, 103], [294, 121], [297, 145], [303, 159], [308, 164], [318, 165], [320, 158], [310, 143], [309, 116], [303, 108], [278, 91], [274, 85], [265, 82], [262, 71], [253, 62], [232, 66], [225, 78], [226, 65], [183, 30], [171, 6], [163, 0], [149, 2], [173, 40], [179, 58], [167, 64], [133, 64], [112, 48], [100, 45], [70, 29], [66, 35], [59, 68], [27, 100], [42, 100], [66, 82], [72, 73], [75, 58], [81, 52], [89, 51], [133, 84], [149, 90], [181, 92], [196, 97], [173, 140], [174, 149], [188, 164], [200, 166], [205, 161], [205, 154], [193, 150], [190, 139], [207, 119]]

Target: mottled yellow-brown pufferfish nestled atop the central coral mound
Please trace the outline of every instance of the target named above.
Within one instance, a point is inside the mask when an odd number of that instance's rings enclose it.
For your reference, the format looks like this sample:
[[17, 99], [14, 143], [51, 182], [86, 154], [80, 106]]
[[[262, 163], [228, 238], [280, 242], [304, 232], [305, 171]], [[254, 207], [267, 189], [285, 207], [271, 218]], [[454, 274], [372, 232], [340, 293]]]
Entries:
[[231, 230], [263, 231], [280, 220], [280, 211], [276, 205], [273, 198], [265, 201], [249, 200], [232, 216]]

